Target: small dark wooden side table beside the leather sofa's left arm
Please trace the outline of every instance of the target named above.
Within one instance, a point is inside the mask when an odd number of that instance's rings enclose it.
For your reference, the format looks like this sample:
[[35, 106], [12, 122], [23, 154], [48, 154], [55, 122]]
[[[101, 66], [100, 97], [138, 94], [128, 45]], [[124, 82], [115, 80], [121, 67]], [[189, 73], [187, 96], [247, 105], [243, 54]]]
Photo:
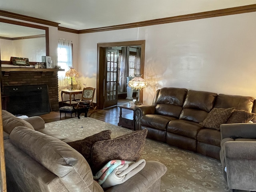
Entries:
[[[125, 127], [131, 130], [135, 130], [135, 113], [134, 108], [130, 107], [129, 104], [119, 105], [120, 108], [120, 116], [118, 126]], [[122, 114], [122, 110], [132, 110], [132, 113]], [[123, 115], [123, 116], [122, 116]]]

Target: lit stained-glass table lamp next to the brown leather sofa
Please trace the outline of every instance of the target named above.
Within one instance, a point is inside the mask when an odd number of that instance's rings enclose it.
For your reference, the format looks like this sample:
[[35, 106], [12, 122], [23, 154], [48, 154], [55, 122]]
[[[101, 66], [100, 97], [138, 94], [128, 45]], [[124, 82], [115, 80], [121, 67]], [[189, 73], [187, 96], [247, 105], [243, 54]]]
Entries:
[[141, 76], [142, 75], [140, 75], [140, 74], [135, 74], [135, 77], [128, 82], [128, 85], [132, 89], [136, 90], [136, 102], [135, 102], [135, 105], [139, 104], [139, 101], [138, 101], [138, 92], [139, 92], [139, 90], [144, 89], [148, 85], [148, 82], [146, 82], [146, 80], [144, 80]]

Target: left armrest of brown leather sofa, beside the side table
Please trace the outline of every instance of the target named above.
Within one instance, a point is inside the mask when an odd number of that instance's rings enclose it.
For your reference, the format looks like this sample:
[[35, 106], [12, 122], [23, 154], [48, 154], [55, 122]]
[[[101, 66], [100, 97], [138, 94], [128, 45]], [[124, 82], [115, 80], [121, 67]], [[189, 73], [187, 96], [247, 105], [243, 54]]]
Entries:
[[156, 106], [154, 105], [140, 105], [135, 106], [134, 113], [135, 113], [135, 130], [140, 130], [140, 119], [143, 115], [146, 114], [154, 114], [156, 110]]

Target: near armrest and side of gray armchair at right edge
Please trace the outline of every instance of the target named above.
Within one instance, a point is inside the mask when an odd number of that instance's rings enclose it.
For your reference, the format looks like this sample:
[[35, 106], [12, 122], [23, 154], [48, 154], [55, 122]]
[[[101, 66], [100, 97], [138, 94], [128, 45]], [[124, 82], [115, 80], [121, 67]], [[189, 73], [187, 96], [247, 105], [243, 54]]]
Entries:
[[224, 143], [228, 187], [255, 191], [256, 142], [228, 141]]

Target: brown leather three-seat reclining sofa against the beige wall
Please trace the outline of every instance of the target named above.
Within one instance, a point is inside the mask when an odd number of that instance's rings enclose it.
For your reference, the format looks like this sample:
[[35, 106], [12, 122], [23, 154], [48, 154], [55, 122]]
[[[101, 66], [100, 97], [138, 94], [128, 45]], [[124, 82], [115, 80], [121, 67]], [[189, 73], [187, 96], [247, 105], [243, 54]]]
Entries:
[[254, 102], [250, 96], [161, 88], [156, 91], [151, 106], [135, 107], [136, 130], [148, 129], [150, 139], [220, 159], [220, 130], [199, 123], [213, 108], [235, 107], [255, 113]]

